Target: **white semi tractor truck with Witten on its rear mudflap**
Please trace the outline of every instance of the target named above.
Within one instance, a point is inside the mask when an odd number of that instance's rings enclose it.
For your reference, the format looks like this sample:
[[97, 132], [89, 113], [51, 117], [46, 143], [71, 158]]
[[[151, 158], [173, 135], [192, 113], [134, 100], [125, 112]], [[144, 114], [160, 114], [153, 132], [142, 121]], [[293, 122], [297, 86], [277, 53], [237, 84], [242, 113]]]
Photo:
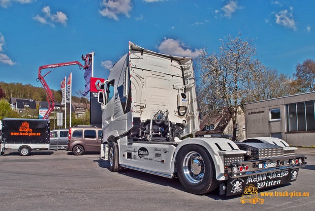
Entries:
[[297, 179], [306, 157], [281, 139], [185, 138], [200, 127], [192, 60], [131, 42], [128, 50], [99, 85], [101, 158], [110, 171], [177, 177], [193, 194], [217, 187], [242, 194], [248, 184], [260, 189]]

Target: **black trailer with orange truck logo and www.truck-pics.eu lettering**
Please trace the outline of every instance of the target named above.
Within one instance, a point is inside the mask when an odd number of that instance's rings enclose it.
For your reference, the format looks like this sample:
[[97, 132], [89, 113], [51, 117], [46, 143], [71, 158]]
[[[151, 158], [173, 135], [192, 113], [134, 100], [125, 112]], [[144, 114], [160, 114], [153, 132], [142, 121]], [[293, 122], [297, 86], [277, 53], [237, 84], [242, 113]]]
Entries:
[[7, 149], [27, 156], [32, 150], [49, 150], [50, 120], [3, 118], [1, 155]]

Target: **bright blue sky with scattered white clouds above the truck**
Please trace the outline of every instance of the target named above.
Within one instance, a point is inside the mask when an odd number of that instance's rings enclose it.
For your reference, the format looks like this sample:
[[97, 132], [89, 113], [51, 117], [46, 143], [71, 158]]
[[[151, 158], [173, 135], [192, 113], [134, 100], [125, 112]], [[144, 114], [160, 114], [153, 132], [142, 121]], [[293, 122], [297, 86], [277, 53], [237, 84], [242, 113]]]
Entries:
[[[78, 60], [95, 52], [94, 76], [128, 50], [128, 41], [159, 53], [196, 58], [218, 51], [227, 35], [255, 39], [265, 66], [292, 76], [297, 63], [314, 59], [314, 0], [0, 0], [0, 81], [32, 84], [38, 67]], [[44, 74], [47, 70], [43, 70]], [[45, 80], [60, 89], [77, 65], [59, 67]]]

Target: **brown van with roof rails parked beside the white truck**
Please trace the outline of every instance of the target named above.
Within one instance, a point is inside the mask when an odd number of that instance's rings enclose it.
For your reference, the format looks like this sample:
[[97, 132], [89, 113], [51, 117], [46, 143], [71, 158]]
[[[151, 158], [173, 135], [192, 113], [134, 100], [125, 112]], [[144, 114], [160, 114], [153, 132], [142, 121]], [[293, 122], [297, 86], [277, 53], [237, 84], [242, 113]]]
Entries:
[[102, 128], [92, 125], [70, 127], [66, 150], [74, 155], [81, 155], [85, 151], [100, 152], [102, 132]]

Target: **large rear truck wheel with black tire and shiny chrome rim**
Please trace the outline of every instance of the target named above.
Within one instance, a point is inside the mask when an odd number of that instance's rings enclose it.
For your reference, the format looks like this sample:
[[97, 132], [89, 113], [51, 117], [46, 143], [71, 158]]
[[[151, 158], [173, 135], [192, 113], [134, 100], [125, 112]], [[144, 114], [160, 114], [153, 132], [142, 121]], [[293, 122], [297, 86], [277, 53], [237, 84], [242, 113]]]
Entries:
[[183, 147], [177, 154], [176, 167], [179, 181], [189, 193], [209, 193], [219, 185], [213, 160], [201, 146]]

